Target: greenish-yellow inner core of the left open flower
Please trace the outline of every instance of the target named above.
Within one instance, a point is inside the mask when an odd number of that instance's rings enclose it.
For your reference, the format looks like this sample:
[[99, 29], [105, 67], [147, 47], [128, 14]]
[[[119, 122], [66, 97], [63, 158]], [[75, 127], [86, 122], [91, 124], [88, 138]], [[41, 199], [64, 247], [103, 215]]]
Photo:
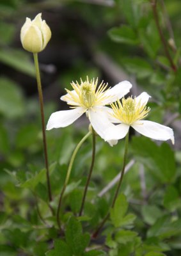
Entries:
[[87, 81], [81, 84], [81, 101], [86, 108], [91, 108], [95, 103], [95, 86]]

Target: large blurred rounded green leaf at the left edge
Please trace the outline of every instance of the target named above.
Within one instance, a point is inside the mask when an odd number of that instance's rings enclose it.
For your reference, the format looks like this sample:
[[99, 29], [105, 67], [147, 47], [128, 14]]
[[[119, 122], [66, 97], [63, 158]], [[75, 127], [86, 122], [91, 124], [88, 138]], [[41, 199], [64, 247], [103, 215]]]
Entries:
[[17, 118], [25, 113], [22, 91], [16, 83], [5, 77], [0, 78], [0, 113], [6, 118]]

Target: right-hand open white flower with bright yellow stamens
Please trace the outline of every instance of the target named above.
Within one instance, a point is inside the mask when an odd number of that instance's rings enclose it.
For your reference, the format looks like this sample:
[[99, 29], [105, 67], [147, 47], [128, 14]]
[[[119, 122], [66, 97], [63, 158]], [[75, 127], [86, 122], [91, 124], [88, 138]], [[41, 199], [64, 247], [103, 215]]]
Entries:
[[113, 123], [120, 123], [108, 127], [105, 131], [105, 140], [120, 140], [124, 138], [129, 131], [129, 127], [133, 127], [137, 132], [154, 140], [171, 140], [174, 144], [173, 130], [167, 126], [157, 124], [152, 121], [142, 120], [148, 115], [150, 108], [146, 108], [146, 104], [150, 95], [143, 92], [138, 97], [132, 99], [122, 99], [111, 104], [112, 109], [109, 110], [109, 119]]

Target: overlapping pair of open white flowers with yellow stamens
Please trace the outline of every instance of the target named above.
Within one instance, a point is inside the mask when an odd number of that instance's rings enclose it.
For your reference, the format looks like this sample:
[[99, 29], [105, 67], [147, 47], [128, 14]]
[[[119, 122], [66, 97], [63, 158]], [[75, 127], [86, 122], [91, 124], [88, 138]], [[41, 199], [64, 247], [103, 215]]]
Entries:
[[[154, 140], [171, 140], [174, 143], [173, 130], [152, 121], [142, 120], [148, 115], [150, 108], [146, 104], [150, 95], [143, 92], [132, 99], [120, 99], [129, 93], [132, 84], [123, 81], [113, 88], [107, 88], [103, 81], [98, 85], [98, 79], [89, 81], [72, 82], [74, 90], [67, 90], [67, 94], [61, 100], [67, 102], [71, 110], [57, 111], [52, 113], [47, 124], [47, 130], [52, 128], [66, 127], [72, 124], [83, 113], [88, 116], [91, 126], [97, 134], [111, 146], [124, 138], [133, 127], [139, 133]], [[106, 105], [111, 104], [111, 108]], [[114, 125], [118, 124], [118, 125]]]

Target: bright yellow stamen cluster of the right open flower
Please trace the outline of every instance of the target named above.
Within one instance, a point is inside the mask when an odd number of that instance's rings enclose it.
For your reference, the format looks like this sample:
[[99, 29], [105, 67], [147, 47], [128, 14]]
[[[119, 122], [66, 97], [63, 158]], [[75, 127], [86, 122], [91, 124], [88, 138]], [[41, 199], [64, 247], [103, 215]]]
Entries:
[[145, 118], [150, 111], [150, 108], [146, 108], [146, 104], [136, 102], [136, 98], [128, 97], [123, 98], [122, 102], [111, 104], [113, 109], [113, 116], [119, 119], [124, 124], [133, 124], [134, 122]]

